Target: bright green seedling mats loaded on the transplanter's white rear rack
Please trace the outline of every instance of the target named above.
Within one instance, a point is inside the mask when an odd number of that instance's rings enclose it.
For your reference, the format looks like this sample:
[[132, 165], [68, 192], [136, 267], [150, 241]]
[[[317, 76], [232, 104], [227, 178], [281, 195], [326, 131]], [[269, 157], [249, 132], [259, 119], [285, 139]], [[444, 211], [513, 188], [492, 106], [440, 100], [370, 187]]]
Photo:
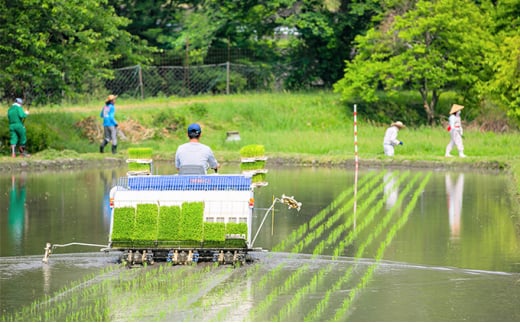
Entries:
[[137, 204], [114, 208], [112, 247], [242, 247], [244, 241], [227, 234], [247, 236], [247, 223], [204, 221], [204, 202], [179, 205]]

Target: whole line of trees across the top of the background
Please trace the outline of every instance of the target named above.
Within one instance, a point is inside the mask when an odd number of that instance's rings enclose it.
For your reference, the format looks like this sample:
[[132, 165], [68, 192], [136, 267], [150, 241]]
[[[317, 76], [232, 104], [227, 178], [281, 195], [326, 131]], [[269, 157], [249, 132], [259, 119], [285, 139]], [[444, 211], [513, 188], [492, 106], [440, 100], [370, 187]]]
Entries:
[[450, 92], [520, 120], [519, 17], [517, 0], [0, 0], [0, 97], [79, 100], [116, 67], [239, 48], [287, 90], [412, 91], [429, 124]]

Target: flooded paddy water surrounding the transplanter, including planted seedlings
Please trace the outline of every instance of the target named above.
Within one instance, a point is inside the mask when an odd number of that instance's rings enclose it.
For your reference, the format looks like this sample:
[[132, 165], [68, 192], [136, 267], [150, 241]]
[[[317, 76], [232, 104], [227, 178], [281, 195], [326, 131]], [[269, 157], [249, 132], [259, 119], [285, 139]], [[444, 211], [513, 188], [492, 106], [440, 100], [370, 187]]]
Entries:
[[[234, 173], [238, 167], [224, 167]], [[126, 167], [0, 175], [0, 308], [30, 321], [520, 321], [520, 236], [507, 175], [269, 169], [252, 264], [127, 269], [107, 244]], [[157, 163], [155, 173], [171, 174]], [[18, 316], [14, 316], [18, 313]]]

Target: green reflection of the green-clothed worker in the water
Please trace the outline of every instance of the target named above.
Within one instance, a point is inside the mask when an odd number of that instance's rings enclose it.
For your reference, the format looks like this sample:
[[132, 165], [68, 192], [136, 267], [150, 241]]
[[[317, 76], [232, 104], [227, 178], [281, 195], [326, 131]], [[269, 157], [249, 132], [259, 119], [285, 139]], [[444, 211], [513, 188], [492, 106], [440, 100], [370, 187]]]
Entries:
[[23, 240], [25, 195], [25, 173], [22, 173], [18, 183], [16, 183], [16, 178], [13, 175], [9, 194], [8, 231], [11, 235], [11, 241], [14, 241], [16, 246], [19, 246]]

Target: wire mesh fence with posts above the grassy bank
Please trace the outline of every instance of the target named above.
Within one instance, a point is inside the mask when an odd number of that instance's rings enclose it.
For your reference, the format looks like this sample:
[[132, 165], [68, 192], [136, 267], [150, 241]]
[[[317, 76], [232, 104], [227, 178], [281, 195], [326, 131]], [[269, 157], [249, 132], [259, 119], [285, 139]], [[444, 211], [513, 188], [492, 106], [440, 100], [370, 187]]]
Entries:
[[114, 71], [106, 88], [136, 98], [264, 91], [274, 77], [259, 66], [236, 63], [192, 66], [130, 66]]

